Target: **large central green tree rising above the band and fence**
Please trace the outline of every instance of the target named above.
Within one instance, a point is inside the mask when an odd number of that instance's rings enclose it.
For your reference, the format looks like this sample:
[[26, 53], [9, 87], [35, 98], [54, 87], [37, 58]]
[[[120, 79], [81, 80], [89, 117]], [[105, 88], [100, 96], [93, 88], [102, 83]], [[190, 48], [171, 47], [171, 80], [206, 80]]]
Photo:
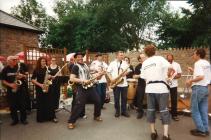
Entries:
[[58, 22], [48, 42], [71, 51], [113, 52], [138, 48], [146, 28], [156, 24], [165, 0], [73, 0], [57, 2]]

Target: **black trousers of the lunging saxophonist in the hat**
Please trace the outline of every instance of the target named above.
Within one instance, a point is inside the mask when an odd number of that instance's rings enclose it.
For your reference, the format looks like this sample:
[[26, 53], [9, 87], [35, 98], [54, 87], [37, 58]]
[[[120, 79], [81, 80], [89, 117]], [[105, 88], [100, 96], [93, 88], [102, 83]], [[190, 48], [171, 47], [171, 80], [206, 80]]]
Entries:
[[77, 121], [88, 101], [94, 103], [94, 117], [99, 117], [101, 115], [101, 100], [97, 94], [96, 88], [91, 87], [88, 89], [83, 89], [81, 86], [78, 86], [75, 105], [68, 120], [69, 123], [75, 123]]

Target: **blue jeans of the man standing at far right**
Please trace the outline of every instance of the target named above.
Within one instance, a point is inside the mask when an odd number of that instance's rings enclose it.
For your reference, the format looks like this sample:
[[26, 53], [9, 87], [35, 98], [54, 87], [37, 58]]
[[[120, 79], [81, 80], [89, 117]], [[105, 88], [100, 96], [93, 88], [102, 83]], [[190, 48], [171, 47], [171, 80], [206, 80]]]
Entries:
[[199, 131], [208, 131], [208, 87], [193, 86], [191, 97], [192, 119]]

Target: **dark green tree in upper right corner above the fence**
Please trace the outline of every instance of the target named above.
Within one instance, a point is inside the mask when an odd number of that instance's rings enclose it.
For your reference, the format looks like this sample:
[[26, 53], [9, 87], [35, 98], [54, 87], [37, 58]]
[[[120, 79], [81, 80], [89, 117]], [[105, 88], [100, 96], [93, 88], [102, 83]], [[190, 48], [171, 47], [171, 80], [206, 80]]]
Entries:
[[160, 47], [193, 47], [211, 44], [211, 1], [189, 0], [193, 11], [182, 9], [184, 16], [166, 13], [160, 22]]

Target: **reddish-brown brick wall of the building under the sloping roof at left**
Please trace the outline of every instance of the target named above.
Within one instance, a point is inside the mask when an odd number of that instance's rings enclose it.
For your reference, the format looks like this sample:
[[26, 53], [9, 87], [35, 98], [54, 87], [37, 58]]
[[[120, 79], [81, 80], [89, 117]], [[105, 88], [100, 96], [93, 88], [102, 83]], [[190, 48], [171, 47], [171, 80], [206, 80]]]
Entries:
[[0, 55], [15, 55], [25, 46], [38, 47], [38, 34], [8, 27], [0, 27]]

